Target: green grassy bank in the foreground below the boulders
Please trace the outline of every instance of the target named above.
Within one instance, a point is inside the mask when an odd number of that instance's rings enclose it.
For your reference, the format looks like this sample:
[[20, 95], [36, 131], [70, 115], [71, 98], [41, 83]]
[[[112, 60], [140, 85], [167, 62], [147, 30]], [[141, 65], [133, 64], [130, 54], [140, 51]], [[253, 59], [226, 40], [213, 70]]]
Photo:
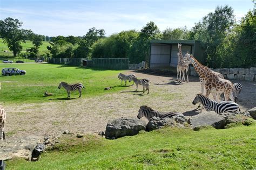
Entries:
[[230, 129], [165, 128], [133, 137], [66, 136], [37, 162], [7, 161], [8, 169], [255, 169], [256, 125]]

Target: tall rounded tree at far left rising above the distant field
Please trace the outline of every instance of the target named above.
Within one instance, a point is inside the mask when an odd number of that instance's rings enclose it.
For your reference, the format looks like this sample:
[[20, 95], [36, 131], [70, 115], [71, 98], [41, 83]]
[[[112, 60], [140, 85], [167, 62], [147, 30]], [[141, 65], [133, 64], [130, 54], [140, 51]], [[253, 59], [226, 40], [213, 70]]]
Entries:
[[22, 51], [21, 42], [25, 42], [28, 32], [28, 30], [19, 29], [22, 24], [18, 19], [10, 17], [0, 20], [0, 35], [8, 48], [14, 52], [15, 57]]

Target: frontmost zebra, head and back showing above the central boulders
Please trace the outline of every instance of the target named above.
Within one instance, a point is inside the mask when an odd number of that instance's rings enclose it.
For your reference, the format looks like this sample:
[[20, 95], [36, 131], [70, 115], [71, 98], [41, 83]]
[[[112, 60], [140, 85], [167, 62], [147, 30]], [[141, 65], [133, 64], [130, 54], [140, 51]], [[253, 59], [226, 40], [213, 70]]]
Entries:
[[156, 111], [151, 109], [150, 107], [147, 107], [146, 105], [143, 105], [139, 108], [139, 114], [137, 116], [138, 119], [142, 118], [145, 116], [147, 120], [150, 121], [152, 117], [159, 117], [159, 118], [164, 118], [164, 117], [173, 117], [173, 116], [182, 116], [184, 117], [183, 114], [180, 114], [179, 112], [176, 111], [171, 111], [171, 112], [161, 112], [161, 111]]

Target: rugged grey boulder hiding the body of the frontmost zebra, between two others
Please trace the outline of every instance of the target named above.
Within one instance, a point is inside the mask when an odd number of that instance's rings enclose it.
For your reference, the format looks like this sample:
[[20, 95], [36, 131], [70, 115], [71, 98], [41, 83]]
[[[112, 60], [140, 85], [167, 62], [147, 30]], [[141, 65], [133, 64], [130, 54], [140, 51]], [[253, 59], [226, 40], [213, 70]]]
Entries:
[[185, 128], [184, 124], [187, 122], [185, 116], [177, 115], [173, 117], [152, 117], [147, 123], [146, 131], [152, 131], [159, 128], [163, 128], [164, 126], [171, 126], [177, 128]]

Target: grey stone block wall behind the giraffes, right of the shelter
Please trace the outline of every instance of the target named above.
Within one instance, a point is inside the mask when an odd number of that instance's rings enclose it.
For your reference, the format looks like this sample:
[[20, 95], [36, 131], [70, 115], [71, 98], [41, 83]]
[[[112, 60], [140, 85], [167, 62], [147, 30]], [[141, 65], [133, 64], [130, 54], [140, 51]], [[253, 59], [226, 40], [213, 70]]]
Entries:
[[[221, 73], [225, 79], [256, 81], [256, 67], [251, 68], [216, 68], [214, 72]], [[191, 67], [190, 75], [198, 76], [194, 67]]]

